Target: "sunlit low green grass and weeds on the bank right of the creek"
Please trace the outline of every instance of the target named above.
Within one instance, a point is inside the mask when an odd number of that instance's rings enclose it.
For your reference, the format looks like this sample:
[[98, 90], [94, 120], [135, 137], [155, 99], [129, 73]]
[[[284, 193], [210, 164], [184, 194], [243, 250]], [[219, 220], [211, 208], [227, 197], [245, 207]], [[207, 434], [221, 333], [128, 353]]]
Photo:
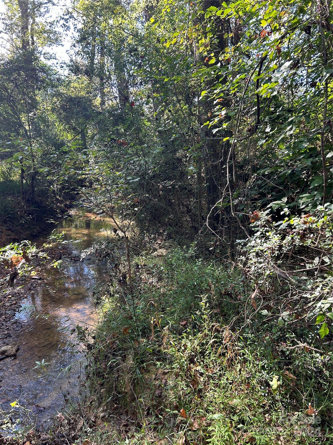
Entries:
[[[272, 299], [267, 290], [254, 303], [249, 277], [232, 263], [200, 259], [195, 252], [193, 245], [132, 259], [132, 291], [124, 275], [118, 278], [122, 262], [113, 259], [88, 352], [82, 440], [329, 441], [327, 337], [297, 317], [281, 323], [283, 299], [273, 299], [267, 316], [260, 310]], [[88, 338], [82, 328], [79, 334]]]

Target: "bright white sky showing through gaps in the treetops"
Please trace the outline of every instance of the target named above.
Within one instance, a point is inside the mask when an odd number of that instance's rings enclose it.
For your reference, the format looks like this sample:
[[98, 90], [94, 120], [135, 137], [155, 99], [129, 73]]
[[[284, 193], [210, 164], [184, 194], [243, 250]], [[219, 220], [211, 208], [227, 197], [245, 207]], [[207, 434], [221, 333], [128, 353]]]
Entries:
[[[50, 13], [48, 14], [48, 16], [45, 17], [45, 20], [56, 20], [57, 18], [59, 18], [62, 11], [69, 4], [70, 4], [70, 0], [59, 0], [58, 4], [56, 6], [50, 6]], [[0, 0], [0, 17], [2, 17], [4, 12], [5, 12], [4, 0]], [[66, 35], [62, 31], [62, 45], [54, 45], [54, 46], [46, 48], [46, 51], [48, 53], [55, 54], [55, 60], [51, 61], [51, 63], [53, 63], [54, 65], [58, 65], [61, 62], [69, 61], [68, 51], [71, 46], [70, 34], [71, 34], [71, 31], [69, 32], [69, 35]], [[0, 53], [4, 52], [5, 48], [6, 48], [6, 43], [4, 41], [3, 36], [0, 33]], [[49, 61], [49, 63], [50, 63], [50, 61]]]

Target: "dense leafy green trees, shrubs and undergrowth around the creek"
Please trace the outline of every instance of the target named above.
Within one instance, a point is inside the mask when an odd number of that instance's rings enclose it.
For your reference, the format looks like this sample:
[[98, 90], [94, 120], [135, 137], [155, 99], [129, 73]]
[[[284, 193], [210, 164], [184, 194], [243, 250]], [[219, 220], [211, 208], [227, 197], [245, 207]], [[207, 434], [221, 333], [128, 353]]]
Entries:
[[[154, 413], [174, 418], [179, 397], [186, 413], [201, 410], [201, 417], [188, 417], [190, 443], [273, 443], [276, 436], [264, 437], [258, 427], [265, 420], [277, 428], [275, 417], [265, 417], [270, 410], [288, 416], [310, 410], [309, 403], [328, 419], [330, 1], [73, 0], [57, 20], [51, 0], [4, 4], [2, 235], [20, 237], [18, 217], [32, 225], [36, 212], [59, 210], [73, 197], [117, 215], [128, 282], [121, 292], [117, 280], [110, 285], [100, 329], [104, 341], [126, 328], [122, 299], [128, 299], [135, 336], [129, 341], [122, 331], [121, 352], [117, 346], [115, 357], [97, 357], [103, 391], [119, 391], [111, 388], [111, 371], [125, 372], [137, 355], [145, 363], [165, 360], [174, 380]], [[65, 33], [69, 61], [57, 65], [52, 48]], [[143, 262], [133, 258], [131, 243], [153, 243], [161, 233], [192, 247], [189, 256], [176, 250], [165, 263], [146, 264], [160, 277], [147, 289], [137, 283]], [[173, 302], [169, 313], [164, 297]], [[151, 303], [156, 316], [143, 311]], [[147, 340], [150, 319], [159, 321], [151, 322]], [[154, 327], [161, 337], [152, 346]], [[138, 338], [145, 339], [139, 349]], [[115, 368], [103, 373], [105, 360]], [[141, 361], [128, 368], [139, 372]], [[320, 383], [311, 382], [317, 377]], [[237, 379], [246, 400], [231, 398]], [[249, 404], [259, 387], [269, 395], [255, 399], [261, 408], [254, 415]], [[199, 389], [207, 391], [204, 403]], [[151, 406], [140, 407], [151, 413]], [[235, 433], [238, 421], [242, 434]], [[178, 433], [172, 443], [188, 443], [189, 433]], [[290, 437], [279, 443], [292, 443]]]

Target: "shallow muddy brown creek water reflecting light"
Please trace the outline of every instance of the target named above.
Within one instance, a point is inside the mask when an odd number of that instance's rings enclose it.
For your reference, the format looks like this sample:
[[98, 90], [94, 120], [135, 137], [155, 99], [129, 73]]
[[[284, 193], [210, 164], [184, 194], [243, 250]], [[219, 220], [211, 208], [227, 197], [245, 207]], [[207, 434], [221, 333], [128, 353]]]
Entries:
[[[29, 417], [39, 427], [47, 428], [67, 399], [75, 400], [81, 392], [83, 356], [71, 328], [77, 324], [91, 329], [97, 321], [93, 288], [107, 280], [106, 267], [96, 264], [82, 252], [96, 237], [109, 234], [113, 223], [95, 214], [76, 214], [57, 225], [56, 233], [65, 232], [65, 240], [80, 260], [63, 258], [60, 269], [50, 268], [42, 280], [22, 300], [16, 313], [20, 330], [15, 340], [20, 349], [14, 359], [0, 361], [0, 407], [8, 411], [10, 403], [29, 410]], [[42, 245], [48, 233], [34, 240]], [[90, 258], [89, 258], [90, 257]], [[34, 369], [36, 361], [48, 363], [47, 373]], [[63, 368], [72, 365], [68, 374]], [[16, 406], [16, 412], [20, 409]], [[21, 410], [21, 417], [27, 412]], [[1, 420], [1, 419], [0, 419]]]

